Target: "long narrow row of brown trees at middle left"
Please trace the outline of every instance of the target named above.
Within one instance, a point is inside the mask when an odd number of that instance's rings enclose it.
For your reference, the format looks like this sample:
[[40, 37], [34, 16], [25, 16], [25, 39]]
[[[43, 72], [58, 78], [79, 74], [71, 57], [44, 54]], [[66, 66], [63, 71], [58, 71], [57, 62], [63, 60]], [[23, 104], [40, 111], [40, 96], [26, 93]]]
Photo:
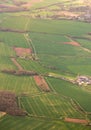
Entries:
[[7, 74], [13, 74], [13, 75], [19, 75], [19, 76], [34, 76], [34, 75], [38, 75], [37, 72], [34, 71], [26, 71], [26, 70], [8, 70], [8, 69], [4, 69], [1, 72], [3, 73], [7, 73]]

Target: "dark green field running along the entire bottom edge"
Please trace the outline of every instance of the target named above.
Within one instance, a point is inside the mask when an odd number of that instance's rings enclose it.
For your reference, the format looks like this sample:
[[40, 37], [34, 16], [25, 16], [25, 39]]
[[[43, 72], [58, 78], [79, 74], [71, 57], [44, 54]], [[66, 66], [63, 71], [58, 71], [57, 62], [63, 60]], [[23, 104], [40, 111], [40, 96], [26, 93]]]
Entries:
[[[2, 118], [1, 122], [2, 125], [0, 125], [0, 129], [4, 129], [4, 130], [10, 130], [13, 127], [13, 130], [16, 129], [30, 129], [31, 130], [55, 130], [59, 128], [62, 128], [63, 130], [68, 130], [69, 129], [78, 129], [78, 130], [90, 130], [89, 127], [83, 126], [83, 125], [76, 125], [76, 124], [71, 124], [71, 123], [64, 123], [61, 121], [51, 121], [48, 119], [41, 119], [41, 118], [19, 118], [19, 117], [11, 117], [11, 116], [5, 116]], [[18, 124], [18, 125], [17, 125]]]

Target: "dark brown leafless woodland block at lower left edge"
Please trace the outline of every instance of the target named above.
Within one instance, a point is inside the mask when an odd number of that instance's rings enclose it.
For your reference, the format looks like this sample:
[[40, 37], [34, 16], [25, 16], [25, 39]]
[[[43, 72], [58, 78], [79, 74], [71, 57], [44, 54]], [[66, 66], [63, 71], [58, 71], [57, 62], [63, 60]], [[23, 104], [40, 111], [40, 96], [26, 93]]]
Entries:
[[24, 110], [19, 109], [16, 95], [9, 91], [0, 91], [0, 111], [15, 116], [27, 115]]

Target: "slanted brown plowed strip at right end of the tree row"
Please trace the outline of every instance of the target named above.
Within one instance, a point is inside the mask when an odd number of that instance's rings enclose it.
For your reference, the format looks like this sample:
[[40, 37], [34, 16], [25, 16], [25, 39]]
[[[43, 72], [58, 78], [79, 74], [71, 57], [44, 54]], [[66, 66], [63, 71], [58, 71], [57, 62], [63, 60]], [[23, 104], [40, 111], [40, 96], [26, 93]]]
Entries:
[[37, 84], [37, 86], [45, 92], [49, 92], [50, 88], [48, 86], [48, 84], [46, 83], [45, 79], [42, 76], [34, 76], [34, 80]]

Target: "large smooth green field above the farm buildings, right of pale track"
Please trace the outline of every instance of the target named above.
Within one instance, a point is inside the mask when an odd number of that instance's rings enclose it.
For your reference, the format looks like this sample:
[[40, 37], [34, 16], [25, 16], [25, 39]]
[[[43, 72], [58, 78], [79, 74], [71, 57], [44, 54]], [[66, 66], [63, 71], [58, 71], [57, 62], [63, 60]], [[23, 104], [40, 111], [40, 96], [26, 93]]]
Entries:
[[66, 36], [37, 33], [31, 33], [30, 37], [43, 64], [49, 66], [52, 64], [59, 69], [64, 68], [64, 70], [76, 74], [80, 72], [81, 74], [90, 75], [90, 52], [85, 51], [82, 46], [65, 44], [71, 39]]

